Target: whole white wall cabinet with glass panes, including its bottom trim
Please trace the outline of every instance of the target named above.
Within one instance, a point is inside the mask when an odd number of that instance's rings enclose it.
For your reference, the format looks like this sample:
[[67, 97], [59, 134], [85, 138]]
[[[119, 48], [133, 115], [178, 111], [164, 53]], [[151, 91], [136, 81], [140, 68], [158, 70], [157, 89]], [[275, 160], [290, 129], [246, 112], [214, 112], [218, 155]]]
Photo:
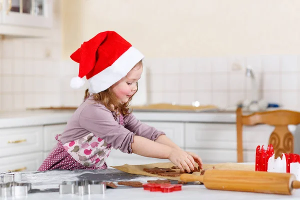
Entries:
[[52, 20], [53, 0], [0, 0], [0, 34], [45, 36]]

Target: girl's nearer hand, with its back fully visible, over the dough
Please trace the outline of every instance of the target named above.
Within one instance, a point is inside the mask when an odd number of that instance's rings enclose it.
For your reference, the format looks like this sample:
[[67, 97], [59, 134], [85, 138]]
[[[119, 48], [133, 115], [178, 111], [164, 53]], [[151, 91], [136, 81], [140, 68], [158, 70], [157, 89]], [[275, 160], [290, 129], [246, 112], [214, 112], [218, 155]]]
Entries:
[[168, 159], [178, 166], [182, 172], [185, 169], [189, 173], [195, 166], [194, 158], [184, 150], [173, 148], [168, 155]]

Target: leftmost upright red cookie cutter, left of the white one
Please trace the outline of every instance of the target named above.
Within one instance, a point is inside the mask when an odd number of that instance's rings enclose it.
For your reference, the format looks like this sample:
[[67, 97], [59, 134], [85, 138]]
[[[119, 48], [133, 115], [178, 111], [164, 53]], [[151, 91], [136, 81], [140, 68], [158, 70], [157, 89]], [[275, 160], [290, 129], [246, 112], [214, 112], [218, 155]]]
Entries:
[[264, 145], [258, 145], [255, 153], [255, 171], [267, 171], [267, 161], [269, 157], [274, 154], [274, 148], [272, 144], [267, 145], [267, 149], [264, 149]]

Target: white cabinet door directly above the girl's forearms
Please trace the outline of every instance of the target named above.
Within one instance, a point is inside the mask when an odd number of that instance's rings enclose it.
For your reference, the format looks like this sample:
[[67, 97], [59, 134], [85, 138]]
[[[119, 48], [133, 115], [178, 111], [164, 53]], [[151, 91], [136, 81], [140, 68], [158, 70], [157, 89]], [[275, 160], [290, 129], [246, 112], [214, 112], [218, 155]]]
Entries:
[[184, 148], [184, 124], [182, 122], [153, 122], [142, 121], [150, 126], [161, 130], [179, 147]]

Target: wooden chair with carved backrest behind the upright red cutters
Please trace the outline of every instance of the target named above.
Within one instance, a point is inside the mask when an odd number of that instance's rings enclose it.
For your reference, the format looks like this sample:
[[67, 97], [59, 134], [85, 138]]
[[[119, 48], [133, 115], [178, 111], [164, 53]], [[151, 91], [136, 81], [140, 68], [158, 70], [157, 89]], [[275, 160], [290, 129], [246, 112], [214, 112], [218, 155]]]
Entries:
[[268, 124], [275, 126], [268, 141], [268, 143], [271, 143], [274, 147], [275, 157], [281, 155], [282, 152], [293, 152], [293, 135], [288, 130], [287, 125], [300, 124], [300, 112], [274, 110], [242, 115], [242, 109], [239, 107], [236, 109], [237, 162], [243, 162], [242, 126], [256, 124]]

